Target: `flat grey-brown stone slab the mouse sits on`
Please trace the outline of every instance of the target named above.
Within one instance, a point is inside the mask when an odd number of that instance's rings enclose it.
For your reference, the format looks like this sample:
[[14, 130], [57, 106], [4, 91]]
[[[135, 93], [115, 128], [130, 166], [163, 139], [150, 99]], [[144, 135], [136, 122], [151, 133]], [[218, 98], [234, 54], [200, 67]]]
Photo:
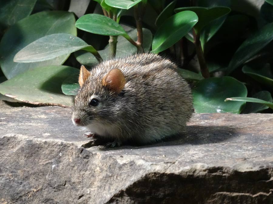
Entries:
[[0, 203], [273, 203], [273, 115], [194, 114], [180, 138], [108, 149], [69, 108], [0, 103]]

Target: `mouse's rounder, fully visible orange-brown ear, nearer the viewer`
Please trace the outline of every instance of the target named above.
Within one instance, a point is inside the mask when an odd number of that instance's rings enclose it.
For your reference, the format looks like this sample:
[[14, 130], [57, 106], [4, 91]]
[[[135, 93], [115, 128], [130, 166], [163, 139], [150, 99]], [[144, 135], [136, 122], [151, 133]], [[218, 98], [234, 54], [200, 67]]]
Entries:
[[120, 69], [113, 69], [102, 80], [103, 86], [119, 94], [125, 86], [125, 77]]

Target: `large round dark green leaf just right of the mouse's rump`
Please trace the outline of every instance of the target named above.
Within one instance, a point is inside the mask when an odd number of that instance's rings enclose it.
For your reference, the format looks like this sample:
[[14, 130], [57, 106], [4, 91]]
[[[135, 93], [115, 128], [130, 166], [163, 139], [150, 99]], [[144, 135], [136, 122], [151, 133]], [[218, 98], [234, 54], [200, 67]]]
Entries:
[[224, 102], [229, 97], [246, 97], [247, 88], [230, 76], [199, 81], [193, 89], [196, 113], [240, 113], [245, 102]]

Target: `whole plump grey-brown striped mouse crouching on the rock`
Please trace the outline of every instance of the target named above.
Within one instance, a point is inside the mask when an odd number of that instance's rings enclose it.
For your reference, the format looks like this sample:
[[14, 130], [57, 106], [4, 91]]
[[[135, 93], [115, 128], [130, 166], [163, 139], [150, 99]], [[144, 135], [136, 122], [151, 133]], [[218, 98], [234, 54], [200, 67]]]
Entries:
[[154, 53], [81, 66], [72, 122], [104, 138], [108, 147], [126, 141], [151, 144], [181, 134], [193, 112], [189, 84], [168, 58]]

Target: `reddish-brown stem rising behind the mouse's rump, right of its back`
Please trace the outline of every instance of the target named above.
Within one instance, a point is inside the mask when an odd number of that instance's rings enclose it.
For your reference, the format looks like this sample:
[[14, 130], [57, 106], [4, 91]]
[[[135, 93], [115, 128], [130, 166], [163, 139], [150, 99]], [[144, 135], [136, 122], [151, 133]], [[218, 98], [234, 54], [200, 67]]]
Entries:
[[210, 73], [208, 71], [206, 60], [205, 60], [204, 53], [202, 50], [202, 46], [201, 46], [201, 42], [200, 42], [200, 34], [196, 34], [194, 29], [193, 29], [193, 34], [194, 34], [194, 45], [195, 45], [196, 54], [198, 57], [202, 76], [204, 76], [204, 78], [209, 78]]

